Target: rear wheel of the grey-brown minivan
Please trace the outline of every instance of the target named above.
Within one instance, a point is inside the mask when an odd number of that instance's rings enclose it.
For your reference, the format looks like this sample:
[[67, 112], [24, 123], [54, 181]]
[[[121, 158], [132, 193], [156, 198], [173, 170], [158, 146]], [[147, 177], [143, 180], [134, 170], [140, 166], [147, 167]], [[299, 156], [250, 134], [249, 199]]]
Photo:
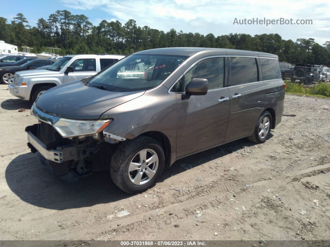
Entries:
[[[267, 121], [265, 121], [267, 120], [267, 118], [268, 118], [268, 124], [266, 125], [266, 129], [265, 129], [263, 126], [265, 126], [265, 123], [267, 123]], [[270, 114], [269, 111], [264, 111], [260, 115], [257, 124], [255, 125], [253, 135], [249, 136], [248, 140], [254, 143], [264, 143], [269, 138], [272, 122], [273, 122], [272, 114]], [[264, 131], [266, 132], [262, 132], [262, 134], [259, 135], [261, 129], [264, 129]]]

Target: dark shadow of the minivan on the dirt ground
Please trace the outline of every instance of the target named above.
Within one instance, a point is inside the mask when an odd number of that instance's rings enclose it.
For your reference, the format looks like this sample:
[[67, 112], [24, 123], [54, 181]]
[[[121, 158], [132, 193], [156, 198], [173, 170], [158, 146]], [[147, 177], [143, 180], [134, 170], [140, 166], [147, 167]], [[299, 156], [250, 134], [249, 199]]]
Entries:
[[[241, 139], [183, 158], [165, 169], [160, 181], [253, 145], [247, 139]], [[64, 210], [89, 207], [132, 196], [116, 187], [109, 171], [94, 173], [81, 177], [76, 183], [68, 183], [50, 173], [39, 161], [37, 154], [32, 153], [19, 155], [12, 160], [6, 168], [5, 176], [9, 188], [22, 201], [42, 208]]]

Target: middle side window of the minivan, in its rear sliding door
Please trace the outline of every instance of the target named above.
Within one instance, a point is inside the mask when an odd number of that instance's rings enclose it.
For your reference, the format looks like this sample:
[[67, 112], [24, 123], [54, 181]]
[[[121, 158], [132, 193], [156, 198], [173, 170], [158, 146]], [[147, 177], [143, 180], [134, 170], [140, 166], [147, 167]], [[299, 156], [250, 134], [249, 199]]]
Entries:
[[[278, 68], [280, 68], [278, 60]], [[240, 85], [258, 81], [257, 63], [253, 57], [230, 58], [230, 85]]]

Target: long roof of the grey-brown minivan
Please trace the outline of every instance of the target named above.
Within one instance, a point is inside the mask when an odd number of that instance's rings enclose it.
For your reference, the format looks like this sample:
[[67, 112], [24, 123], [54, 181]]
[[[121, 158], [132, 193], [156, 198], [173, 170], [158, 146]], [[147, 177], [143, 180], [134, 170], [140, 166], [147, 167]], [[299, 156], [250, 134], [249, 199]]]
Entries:
[[179, 56], [191, 56], [195, 53], [213, 53], [213, 55], [246, 55], [246, 56], [263, 56], [278, 58], [277, 55], [258, 51], [248, 50], [236, 50], [226, 48], [205, 48], [205, 47], [168, 47], [168, 48], [157, 48], [139, 51], [134, 54], [158, 54], [158, 55], [179, 55]]

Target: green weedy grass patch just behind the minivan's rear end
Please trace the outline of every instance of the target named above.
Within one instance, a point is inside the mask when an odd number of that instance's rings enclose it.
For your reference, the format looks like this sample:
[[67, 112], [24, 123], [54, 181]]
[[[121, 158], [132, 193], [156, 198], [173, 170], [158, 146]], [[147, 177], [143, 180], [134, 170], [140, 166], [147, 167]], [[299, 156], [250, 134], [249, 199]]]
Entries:
[[292, 83], [285, 81], [286, 83], [286, 93], [298, 94], [306, 96], [314, 96], [321, 98], [330, 97], [330, 84], [326, 82], [317, 82], [314, 87], [304, 86], [303, 84]]

